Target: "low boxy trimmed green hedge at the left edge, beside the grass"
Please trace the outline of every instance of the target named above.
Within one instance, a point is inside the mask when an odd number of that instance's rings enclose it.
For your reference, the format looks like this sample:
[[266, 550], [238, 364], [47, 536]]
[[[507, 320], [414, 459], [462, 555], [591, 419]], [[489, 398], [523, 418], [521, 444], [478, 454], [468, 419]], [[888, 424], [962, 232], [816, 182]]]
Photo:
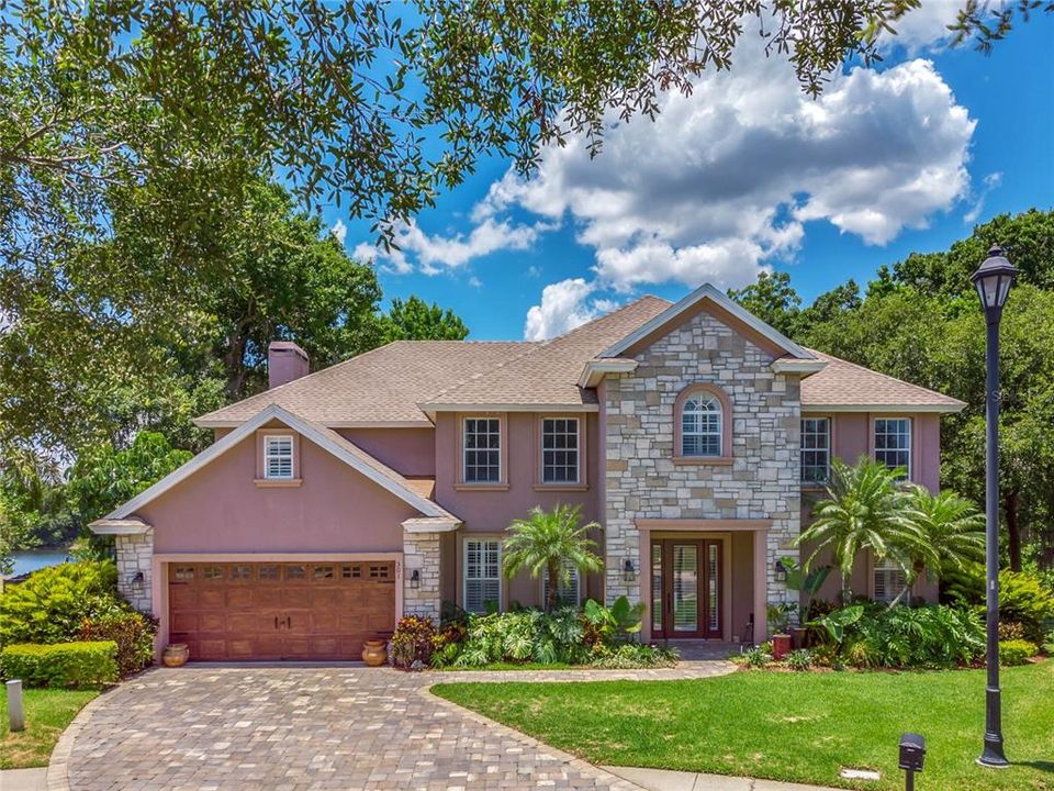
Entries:
[[99, 687], [117, 680], [117, 644], [15, 644], [0, 650], [4, 679], [22, 679], [27, 687]]

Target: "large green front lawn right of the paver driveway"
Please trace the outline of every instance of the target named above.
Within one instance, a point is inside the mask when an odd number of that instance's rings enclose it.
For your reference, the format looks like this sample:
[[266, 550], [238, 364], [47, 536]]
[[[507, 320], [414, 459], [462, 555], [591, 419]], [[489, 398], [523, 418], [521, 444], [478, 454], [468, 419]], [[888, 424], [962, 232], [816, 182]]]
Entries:
[[[980, 769], [985, 676], [744, 671], [694, 681], [445, 683], [433, 691], [593, 764], [904, 788], [902, 732], [926, 736], [920, 791], [1054, 790], [1054, 661], [1002, 672], [1013, 766]], [[877, 769], [853, 786], [843, 766]]]

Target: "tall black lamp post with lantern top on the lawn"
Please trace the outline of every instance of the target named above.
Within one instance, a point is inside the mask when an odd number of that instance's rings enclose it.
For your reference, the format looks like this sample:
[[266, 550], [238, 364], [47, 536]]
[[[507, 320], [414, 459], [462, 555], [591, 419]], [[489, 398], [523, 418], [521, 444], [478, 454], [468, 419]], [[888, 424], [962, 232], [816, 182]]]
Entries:
[[1018, 270], [994, 245], [971, 280], [977, 287], [980, 307], [988, 325], [985, 359], [985, 567], [988, 651], [988, 684], [985, 706], [985, 750], [977, 762], [986, 767], [1007, 767], [1002, 751], [1002, 714], [999, 693], [999, 320], [1002, 305]]

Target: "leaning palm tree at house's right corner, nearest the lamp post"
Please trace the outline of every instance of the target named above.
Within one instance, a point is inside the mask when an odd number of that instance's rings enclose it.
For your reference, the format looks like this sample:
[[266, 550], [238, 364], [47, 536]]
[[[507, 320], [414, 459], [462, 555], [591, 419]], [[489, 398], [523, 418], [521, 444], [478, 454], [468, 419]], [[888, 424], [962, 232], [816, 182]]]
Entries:
[[953, 491], [933, 494], [926, 487], [911, 487], [909, 519], [921, 542], [904, 547], [905, 587], [889, 606], [897, 604], [919, 576], [930, 569], [940, 578], [945, 569], [963, 571], [969, 561], [985, 557], [985, 516]]

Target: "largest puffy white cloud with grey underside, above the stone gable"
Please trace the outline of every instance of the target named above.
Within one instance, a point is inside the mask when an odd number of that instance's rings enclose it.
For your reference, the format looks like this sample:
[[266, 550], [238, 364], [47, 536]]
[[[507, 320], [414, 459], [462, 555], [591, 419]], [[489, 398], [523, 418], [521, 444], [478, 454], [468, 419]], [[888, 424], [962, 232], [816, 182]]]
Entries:
[[579, 141], [547, 149], [530, 180], [492, 185], [473, 219], [569, 214], [604, 288], [739, 287], [792, 258], [806, 222], [882, 245], [968, 194], [975, 122], [932, 63], [834, 75], [814, 101], [761, 47], [744, 40], [730, 73], [662, 97], [654, 122], [613, 124], [596, 159]]

